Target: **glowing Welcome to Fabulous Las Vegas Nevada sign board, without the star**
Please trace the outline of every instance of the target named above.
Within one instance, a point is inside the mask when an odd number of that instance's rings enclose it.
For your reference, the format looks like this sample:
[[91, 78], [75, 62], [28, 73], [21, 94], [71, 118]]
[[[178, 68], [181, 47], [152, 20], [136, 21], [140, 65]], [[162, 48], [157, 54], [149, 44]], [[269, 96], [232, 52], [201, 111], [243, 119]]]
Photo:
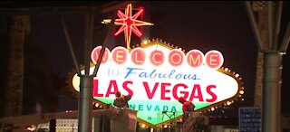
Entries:
[[[93, 49], [93, 63], [101, 48]], [[223, 62], [222, 53], [216, 50], [184, 52], [160, 40], [142, 43], [130, 51], [124, 47], [106, 49], [93, 80], [92, 96], [100, 104], [110, 104], [117, 91], [130, 94], [130, 108], [138, 110], [138, 120], [154, 127], [180, 118], [179, 97], [192, 101], [198, 112], [212, 111], [240, 98], [244, 93], [241, 78], [221, 67]], [[75, 90], [79, 91], [79, 83], [75, 74]], [[162, 111], [174, 112], [175, 117], [164, 116]]]

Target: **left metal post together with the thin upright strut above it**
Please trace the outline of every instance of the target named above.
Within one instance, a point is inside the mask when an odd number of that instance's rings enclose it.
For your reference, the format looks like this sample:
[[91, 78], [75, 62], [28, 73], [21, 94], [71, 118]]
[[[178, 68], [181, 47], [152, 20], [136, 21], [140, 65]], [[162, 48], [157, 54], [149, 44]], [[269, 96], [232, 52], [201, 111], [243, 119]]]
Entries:
[[92, 131], [92, 87], [93, 77], [90, 76], [90, 52], [92, 45], [93, 14], [86, 14], [84, 21], [84, 75], [80, 82], [79, 132]]

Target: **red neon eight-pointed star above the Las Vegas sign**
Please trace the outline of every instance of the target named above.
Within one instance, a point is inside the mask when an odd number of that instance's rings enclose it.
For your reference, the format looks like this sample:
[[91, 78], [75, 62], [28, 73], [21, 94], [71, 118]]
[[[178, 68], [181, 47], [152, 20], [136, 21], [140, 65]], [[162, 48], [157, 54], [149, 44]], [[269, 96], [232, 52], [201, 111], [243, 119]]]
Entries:
[[125, 42], [127, 44], [127, 49], [130, 49], [130, 42], [131, 42], [131, 32], [135, 33], [138, 37], [142, 35], [140, 30], [137, 28], [137, 26], [141, 25], [153, 25], [148, 22], [143, 22], [140, 20], [137, 20], [139, 15], [143, 12], [143, 9], [140, 9], [140, 11], [132, 16], [132, 5], [127, 5], [127, 9], [125, 11], [125, 14], [123, 14], [120, 10], [118, 11], [118, 17], [120, 19], [115, 20], [116, 25], [121, 25], [121, 28], [118, 30], [117, 33], [115, 33], [115, 36], [120, 34], [122, 31], [124, 31], [125, 34]]

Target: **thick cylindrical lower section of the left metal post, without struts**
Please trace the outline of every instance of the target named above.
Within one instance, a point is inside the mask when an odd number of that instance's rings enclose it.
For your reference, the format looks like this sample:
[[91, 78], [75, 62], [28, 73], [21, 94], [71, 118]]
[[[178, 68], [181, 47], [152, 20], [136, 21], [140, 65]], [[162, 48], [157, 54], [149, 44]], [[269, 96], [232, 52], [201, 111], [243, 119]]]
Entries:
[[78, 132], [92, 131], [92, 76], [82, 75], [79, 99]]

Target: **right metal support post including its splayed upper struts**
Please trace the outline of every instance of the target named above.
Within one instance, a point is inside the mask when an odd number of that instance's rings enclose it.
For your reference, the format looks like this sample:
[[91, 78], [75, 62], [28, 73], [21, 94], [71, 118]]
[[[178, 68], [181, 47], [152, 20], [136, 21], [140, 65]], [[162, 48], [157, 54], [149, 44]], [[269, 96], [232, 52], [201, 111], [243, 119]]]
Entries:
[[[247, 1], [245, 4], [259, 52], [264, 54], [262, 131], [280, 131], [282, 52], [286, 52], [290, 41], [290, 22], [286, 25], [284, 39], [279, 41], [283, 2], [256, 1], [251, 3]], [[259, 24], [267, 24], [267, 27], [258, 28], [252, 5], [256, 7], [256, 11], [261, 13], [258, 17], [263, 20]], [[276, 18], [274, 18], [274, 14], [276, 14]], [[262, 36], [264, 37], [262, 38]]]

